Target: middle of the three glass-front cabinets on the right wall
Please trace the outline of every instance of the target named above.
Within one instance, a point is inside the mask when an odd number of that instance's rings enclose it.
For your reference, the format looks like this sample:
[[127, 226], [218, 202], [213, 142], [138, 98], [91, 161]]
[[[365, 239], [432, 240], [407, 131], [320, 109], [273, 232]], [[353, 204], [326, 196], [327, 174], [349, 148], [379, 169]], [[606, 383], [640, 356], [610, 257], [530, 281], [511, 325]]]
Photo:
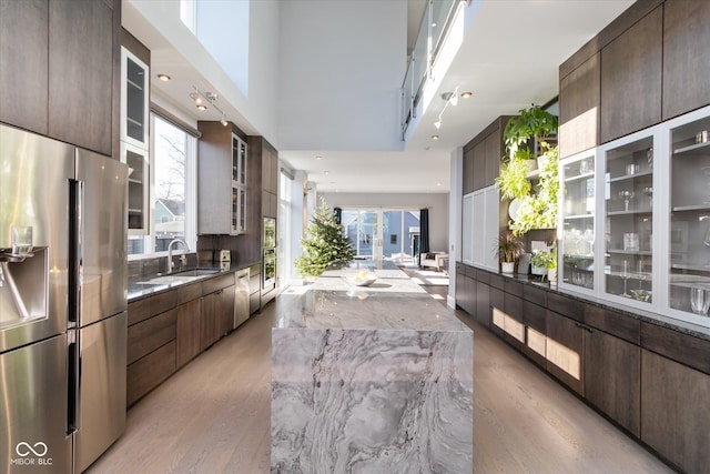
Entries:
[[604, 292], [650, 306], [652, 294], [653, 135], [604, 151]]

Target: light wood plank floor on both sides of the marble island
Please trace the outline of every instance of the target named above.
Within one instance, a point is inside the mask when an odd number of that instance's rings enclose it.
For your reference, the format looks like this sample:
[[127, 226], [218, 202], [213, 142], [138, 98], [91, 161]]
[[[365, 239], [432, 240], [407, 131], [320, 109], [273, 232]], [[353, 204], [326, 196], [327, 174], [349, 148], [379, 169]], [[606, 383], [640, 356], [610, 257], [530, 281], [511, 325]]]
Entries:
[[[268, 473], [277, 315], [278, 300], [138, 402], [126, 432], [88, 472]], [[673, 472], [488, 330], [460, 317], [475, 331], [474, 473]]]

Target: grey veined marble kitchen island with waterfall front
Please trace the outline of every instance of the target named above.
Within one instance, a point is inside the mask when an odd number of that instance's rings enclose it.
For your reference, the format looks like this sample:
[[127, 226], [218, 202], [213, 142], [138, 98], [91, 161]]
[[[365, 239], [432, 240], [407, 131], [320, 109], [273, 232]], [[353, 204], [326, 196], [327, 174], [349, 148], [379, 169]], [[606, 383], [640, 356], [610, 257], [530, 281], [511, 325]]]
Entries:
[[272, 330], [273, 473], [470, 473], [473, 332], [393, 268], [283, 293]]

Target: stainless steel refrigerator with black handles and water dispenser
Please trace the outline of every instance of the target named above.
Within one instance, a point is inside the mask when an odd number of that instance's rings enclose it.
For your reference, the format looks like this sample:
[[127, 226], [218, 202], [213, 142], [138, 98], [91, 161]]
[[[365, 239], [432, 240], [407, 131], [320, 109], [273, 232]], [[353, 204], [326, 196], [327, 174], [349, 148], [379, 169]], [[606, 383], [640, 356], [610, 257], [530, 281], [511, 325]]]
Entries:
[[80, 473], [125, 428], [126, 180], [0, 125], [0, 472]]

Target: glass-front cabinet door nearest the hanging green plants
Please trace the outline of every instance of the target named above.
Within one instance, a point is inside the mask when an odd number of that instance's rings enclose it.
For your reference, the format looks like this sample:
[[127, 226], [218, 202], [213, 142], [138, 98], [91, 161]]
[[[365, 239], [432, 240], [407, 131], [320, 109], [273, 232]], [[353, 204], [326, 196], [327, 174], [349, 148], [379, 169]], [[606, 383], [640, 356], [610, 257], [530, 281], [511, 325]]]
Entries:
[[595, 288], [596, 151], [560, 162], [559, 284], [575, 290]]

